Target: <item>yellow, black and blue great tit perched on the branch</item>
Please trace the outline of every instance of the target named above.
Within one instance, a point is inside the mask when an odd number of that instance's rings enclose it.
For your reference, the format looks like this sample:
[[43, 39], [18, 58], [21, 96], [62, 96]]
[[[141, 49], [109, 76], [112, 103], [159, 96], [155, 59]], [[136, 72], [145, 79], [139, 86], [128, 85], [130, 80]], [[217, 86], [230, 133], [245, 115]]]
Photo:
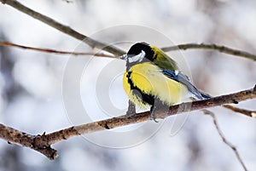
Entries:
[[135, 43], [120, 59], [126, 61], [125, 93], [140, 108], [150, 107], [149, 117], [155, 122], [156, 109], [176, 105], [185, 96], [197, 100], [211, 98], [195, 88], [189, 77], [179, 71], [177, 62], [154, 45]]

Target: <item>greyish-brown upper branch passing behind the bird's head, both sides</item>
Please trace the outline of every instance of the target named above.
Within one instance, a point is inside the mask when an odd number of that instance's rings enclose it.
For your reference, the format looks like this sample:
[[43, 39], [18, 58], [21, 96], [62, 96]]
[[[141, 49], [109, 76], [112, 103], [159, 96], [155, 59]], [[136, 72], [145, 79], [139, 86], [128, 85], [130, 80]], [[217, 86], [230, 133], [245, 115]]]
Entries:
[[[125, 51], [120, 48], [117, 48], [112, 45], [108, 45], [106, 43], [101, 43], [101, 42], [96, 41], [90, 37], [86, 37], [83, 34], [79, 33], [78, 31], [74, 31], [69, 26], [64, 26], [61, 23], [45, 16], [44, 14], [40, 14], [32, 9], [27, 8], [26, 6], [24, 6], [23, 4], [15, 1], [15, 0], [0, 0], [0, 2], [2, 2], [4, 4], [8, 4], [8, 5], [12, 6], [13, 8], [18, 9], [25, 14], [29, 14], [33, 18], [35, 18], [37, 20], [41, 20], [45, 24], [52, 26], [55, 29], [66, 33], [67, 35], [69, 35], [71, 37], [75, 37], [75, 38], [83, 41], [84, 43], [87, 43], [91, 48], [95, 48], [95, 47], [102, 48], [103, 50], [106, 50], [109, 53], [115, 54], [117, 56], [125, 54]], [[241, 56], [241, 57], [244, 57], [244, 58], [247, 58], [250, 60], [256, 60], [255, 54], [250, 54], [245, 51], [237, 50], [234, 48], [228, 48], [228, 47], [220, 46], [217, 44], [187, 43], [187, 44], [180, 44], [177, 46], [165, 47], [165, 48], [162, 48], [162, 50], [171, 51], [171, 50], [178, 50], [178, 49], [186, 50], [186, 49], [192, 49], [192, 48], [213, 49], [213, 50], [218, 50], [219, 52], [222, 52], [225, 54], [232, 54], [232, 55]]]

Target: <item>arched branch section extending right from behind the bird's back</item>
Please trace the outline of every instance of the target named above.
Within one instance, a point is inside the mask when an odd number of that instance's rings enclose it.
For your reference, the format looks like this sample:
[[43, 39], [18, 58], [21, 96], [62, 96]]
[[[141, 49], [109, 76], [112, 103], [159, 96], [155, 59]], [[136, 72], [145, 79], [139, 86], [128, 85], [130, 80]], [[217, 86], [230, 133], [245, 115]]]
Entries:
[[247, 53], [242, 50], [228, 48], [228, 47], [217, 45], [217, 44], [187, 43], [187, 44], [179, 44], [177, 46], [165, 47], [165, 48], [161, 48], [161, 49], [165, 52], [168, 52], [168, 51], [178, 50], [178, 49], [186, 50], [186, 49], [193, 49], [193, 48], [212, 49], [212, 50], [217, 50], [224, 54], [232, 54], [232, 55], [244, 57], [244, 58], [247, 58], [250, 60], [256, 60], [255, 54], [250, 54], [250, 53]]

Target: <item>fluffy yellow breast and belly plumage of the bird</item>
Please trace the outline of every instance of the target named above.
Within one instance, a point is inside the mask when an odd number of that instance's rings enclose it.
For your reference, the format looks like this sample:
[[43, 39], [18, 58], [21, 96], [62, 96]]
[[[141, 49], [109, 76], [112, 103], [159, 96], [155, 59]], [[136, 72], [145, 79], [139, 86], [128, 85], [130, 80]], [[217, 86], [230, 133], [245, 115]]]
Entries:
[[[133, 85], [128, 82], [128, 77], [130, 77]], [[187, 88], [183, 84], [166, 77], [158, 66], [149, 62], [131, 66], [131, 69], [124, 74], [123, 86], [129, 99], [143, 108], [148, 105], [141, 98], [132, 94], [132, 86], [139, 88], [143, 94], [157, 97], [166, 105], [180, 102], [187, 93]]]

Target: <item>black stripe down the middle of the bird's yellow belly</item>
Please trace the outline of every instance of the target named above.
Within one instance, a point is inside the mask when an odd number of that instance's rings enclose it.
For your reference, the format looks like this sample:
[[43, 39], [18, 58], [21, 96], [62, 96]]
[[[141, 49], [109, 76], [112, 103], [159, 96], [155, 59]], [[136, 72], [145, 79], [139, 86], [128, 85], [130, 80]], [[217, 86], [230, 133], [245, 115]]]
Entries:
[[148, 103], [149, 105], [154, 105], [154, 96], [151, 94], [144, 94], [140, 88], [134, 85], [131, 80], [131, 72], [132, 71], [128, 71], [126, 76], [128, 78], [128, 83], [131, 86], [131, 94], [136, 95], [137, 98], [142, 100], [145, 104]]

